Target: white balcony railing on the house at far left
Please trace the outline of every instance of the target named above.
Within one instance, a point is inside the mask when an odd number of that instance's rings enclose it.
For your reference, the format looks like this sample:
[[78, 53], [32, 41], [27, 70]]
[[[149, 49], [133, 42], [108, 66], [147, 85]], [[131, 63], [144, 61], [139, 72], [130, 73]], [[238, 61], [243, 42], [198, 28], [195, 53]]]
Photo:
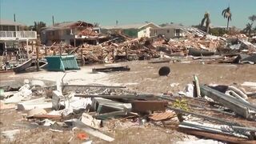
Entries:
[[0, 40], [37, 39], [36, 31], [0, 31]]

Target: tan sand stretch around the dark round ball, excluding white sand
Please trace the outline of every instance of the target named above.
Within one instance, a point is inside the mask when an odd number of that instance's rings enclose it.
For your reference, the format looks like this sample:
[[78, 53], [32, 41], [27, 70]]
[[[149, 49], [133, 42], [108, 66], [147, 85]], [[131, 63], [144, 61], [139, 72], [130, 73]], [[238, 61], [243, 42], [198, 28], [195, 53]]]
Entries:
[[[194, 74], [198, 76], [201, 84], [239, 86], [243, 82], [256, 82], [255, 65], [173, 62], [152, 64], [146, 61], [123, 64], [130, 66], [131, 70], [111, 74], [109, 80], [144, 93], [177, 93], [179, 90], [184, 90], [187, 84], [192, 83]], [[171, 72], [168, 77], [158, 75], [161, 66], [170, 67]]]

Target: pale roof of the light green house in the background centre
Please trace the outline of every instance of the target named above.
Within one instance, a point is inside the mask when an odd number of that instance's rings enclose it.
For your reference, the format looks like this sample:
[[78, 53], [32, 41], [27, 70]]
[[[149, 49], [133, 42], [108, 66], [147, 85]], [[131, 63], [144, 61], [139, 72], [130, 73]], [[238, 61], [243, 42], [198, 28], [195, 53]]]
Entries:
[[126, 24], [126, 25], [116, 25], [116, 26], [102, 26], [103, 29], [141, 29], [144, 26], [148, 26], [150, 24], [153, 24], [156, 27], [160, 27], [153, 22], [148, 23], [133, 23], [133, 24]]

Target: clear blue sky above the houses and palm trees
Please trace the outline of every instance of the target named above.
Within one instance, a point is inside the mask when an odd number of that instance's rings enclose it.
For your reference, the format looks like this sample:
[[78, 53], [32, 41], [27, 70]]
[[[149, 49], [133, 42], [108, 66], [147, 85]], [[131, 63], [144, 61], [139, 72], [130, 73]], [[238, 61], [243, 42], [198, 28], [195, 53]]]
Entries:
[[203, 14], [210, 12], [214, 26], [226, 26], [222, 10], [230, 3], [233, 14], [230, 26], [243, 28], [248, 17], [256, 14], [256, 0], [0, 0], [0, 16], [33, 25], [34, 21], [51, 24], [77, 21], [98, 22], [101, 26], [155, 22], [197, 25]]

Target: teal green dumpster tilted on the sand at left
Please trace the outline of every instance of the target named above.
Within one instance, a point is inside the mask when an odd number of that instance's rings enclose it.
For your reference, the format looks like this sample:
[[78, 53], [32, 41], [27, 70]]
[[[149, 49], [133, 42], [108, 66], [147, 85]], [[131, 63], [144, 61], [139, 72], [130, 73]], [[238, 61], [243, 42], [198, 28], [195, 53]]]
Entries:
[[48, 62], [47, 70], [50, 71], [80, 70], [74, 55], [47, 56], [46, 60]]

